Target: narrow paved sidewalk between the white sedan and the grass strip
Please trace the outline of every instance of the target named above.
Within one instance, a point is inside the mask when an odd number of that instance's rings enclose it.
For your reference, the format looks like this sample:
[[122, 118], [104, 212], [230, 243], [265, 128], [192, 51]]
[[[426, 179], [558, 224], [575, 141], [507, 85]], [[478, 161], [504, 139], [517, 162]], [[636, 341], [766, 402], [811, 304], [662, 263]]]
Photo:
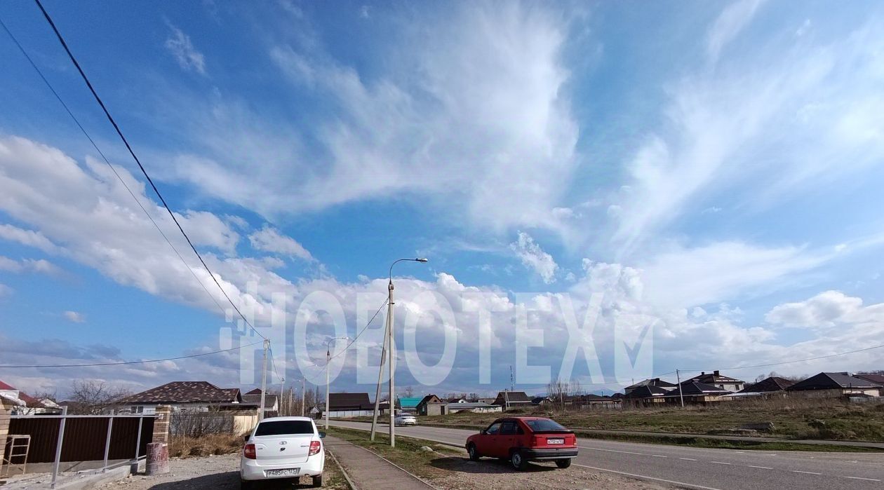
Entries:
[[353, 480], [354, 490], [375, 488], [434, 488], [408, 471], [400, 469], [373, 451], [331, 435], [325, 436], [325, 449], [330, 451]]

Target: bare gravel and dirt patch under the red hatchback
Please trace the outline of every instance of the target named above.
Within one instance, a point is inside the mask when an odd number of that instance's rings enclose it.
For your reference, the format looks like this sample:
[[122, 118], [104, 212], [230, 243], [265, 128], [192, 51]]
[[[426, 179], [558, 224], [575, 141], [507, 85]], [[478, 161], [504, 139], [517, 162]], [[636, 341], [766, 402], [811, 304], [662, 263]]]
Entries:
[[552, 463], [529, 464], [523, 471], [514, 471], [506, 461], [483, 459], [469, 461], [461, 456], [440, 457], [431, 464], [449, 471], [449, 475], [432, 479], [435, 486], [446, 490], [512, 490], [513, 488], [546, 489], [569, 488], [593, 490], [661, 490], [671, 486], [660, 486], [650, 482], [621, 477], [613, 473], [587, 470], [578, 466], [560, 470]]

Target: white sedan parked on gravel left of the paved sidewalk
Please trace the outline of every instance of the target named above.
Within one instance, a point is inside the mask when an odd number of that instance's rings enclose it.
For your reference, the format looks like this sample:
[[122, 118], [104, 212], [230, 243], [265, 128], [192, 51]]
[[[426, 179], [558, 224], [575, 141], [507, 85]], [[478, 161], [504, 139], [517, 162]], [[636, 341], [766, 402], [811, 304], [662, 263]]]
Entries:
[[323, 486], [325, 433], [307, 417], [264, 418], [246, 436], [240, 457], [240, 484], [251, 490], [257, 481], [312, 477]]

